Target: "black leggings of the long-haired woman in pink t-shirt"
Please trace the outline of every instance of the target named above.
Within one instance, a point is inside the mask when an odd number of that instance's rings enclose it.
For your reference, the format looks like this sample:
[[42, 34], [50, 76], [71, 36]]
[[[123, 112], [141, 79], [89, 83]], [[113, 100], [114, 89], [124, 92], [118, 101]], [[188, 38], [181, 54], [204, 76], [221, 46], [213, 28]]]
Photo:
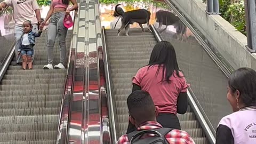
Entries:
[[[172, 129], [178, 129], [181, 130], [180, 128], [180, 121], [177, 117], [177, 115], [170, 114], [170, 113], [159, 113], [157, 116], [157, 122], [161, 124], [163, 127], [170, 127]], [[136, 131], [135, 125], [133, 125], [129, 121], [128, 129], [126, 134], [131, 133], [133, 131]]]

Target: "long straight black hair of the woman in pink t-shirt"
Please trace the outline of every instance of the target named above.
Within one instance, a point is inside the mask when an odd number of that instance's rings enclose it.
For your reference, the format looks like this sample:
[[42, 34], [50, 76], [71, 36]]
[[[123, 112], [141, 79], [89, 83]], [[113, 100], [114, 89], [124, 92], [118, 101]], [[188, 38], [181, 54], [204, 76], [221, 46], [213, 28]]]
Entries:
[[[151, 52], [148, 68], [158, 65], [156, 75], [158, 75], [159, 69], [163, 67], [162, 82], [166, 81], [170, 83], [170, 77], [175, 72], [179, 77], [179, 69], [176, 53], [174, 47], [170, 42], [162, 41], [158, 42]], [[165, 75], [164, 75], [165, 74]]]

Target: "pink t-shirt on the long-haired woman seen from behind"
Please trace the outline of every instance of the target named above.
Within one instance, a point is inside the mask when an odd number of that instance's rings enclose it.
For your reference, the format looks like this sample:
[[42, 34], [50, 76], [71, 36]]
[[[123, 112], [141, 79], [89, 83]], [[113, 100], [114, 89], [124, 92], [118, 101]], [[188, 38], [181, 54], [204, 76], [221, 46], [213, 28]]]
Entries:
[[141, 87], [141, 90], [149, 92], [156, 106], [159, 107], [159, 113], [177, 114], [177, 100], [180, 92], [187, 92], [189, 86], [183, 74], [179, 72], [170, 77], [170, 83], [162, 81], [162, 68], [156, 71], [158, 65], [142, 67], [133, 77], [132, 83]]

